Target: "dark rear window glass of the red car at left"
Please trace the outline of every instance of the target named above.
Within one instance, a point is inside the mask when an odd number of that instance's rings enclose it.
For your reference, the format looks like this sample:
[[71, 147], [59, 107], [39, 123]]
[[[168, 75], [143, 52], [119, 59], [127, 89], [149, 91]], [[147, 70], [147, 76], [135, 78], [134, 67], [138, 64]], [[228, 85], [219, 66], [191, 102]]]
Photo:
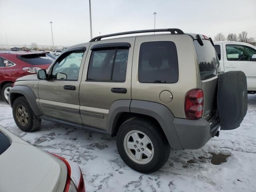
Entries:
[[46, 56], [46, 54], [28, 54], [18, 56], [18, 58], [30, 65], [51, 64], [54, 61], [54, 59]]

